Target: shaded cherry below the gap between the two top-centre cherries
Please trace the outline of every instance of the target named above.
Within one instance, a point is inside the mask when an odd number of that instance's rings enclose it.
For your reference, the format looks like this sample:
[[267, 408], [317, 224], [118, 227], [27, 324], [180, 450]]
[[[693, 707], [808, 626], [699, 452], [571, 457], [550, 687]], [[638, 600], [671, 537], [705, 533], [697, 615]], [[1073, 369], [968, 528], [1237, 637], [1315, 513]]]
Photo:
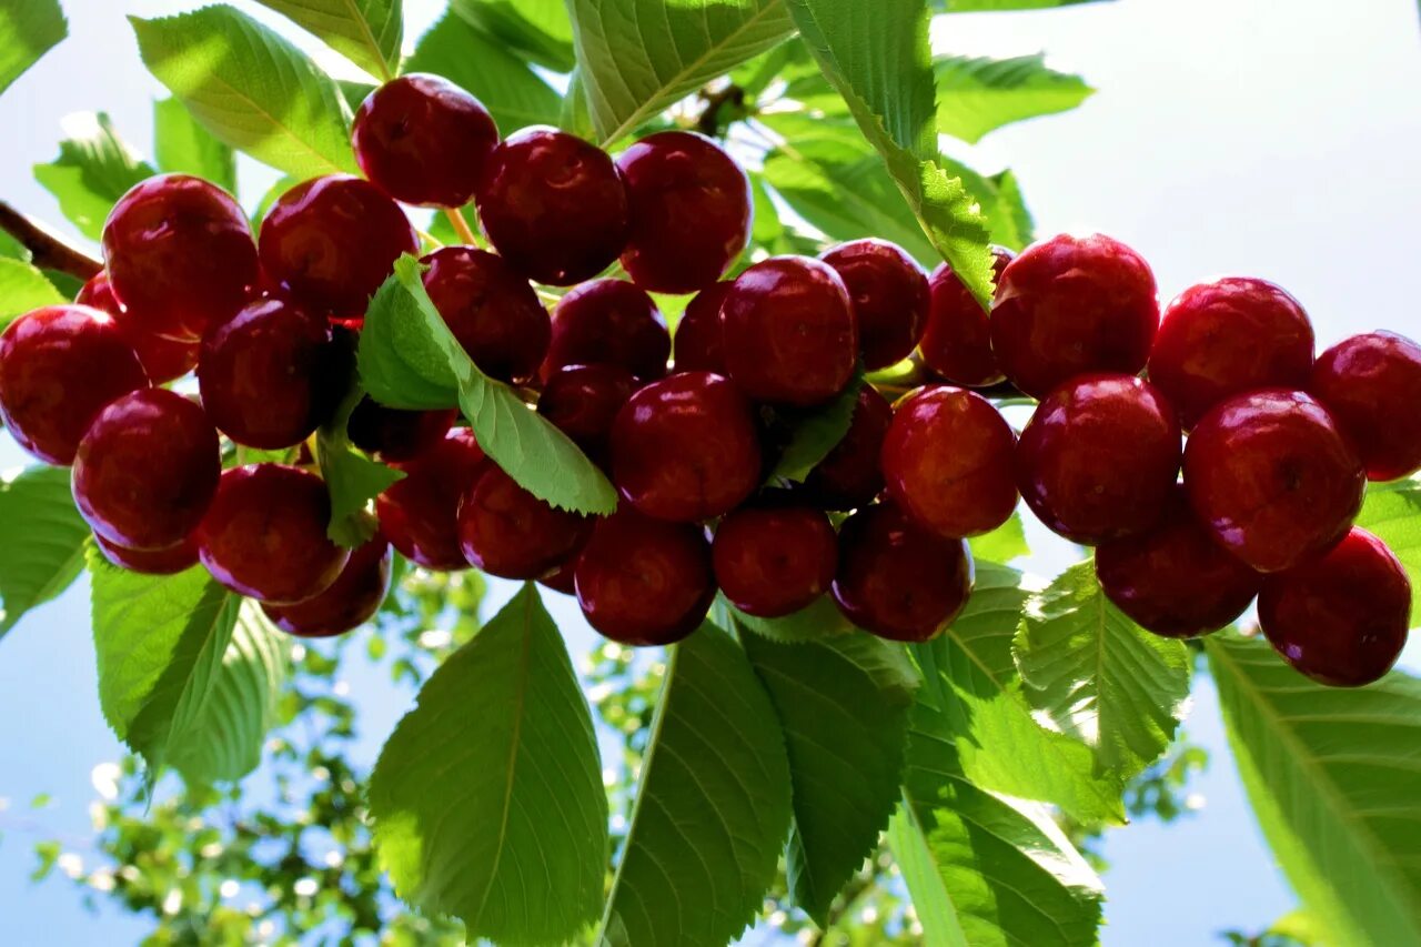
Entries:
[[605, 363], [649, 381], [666, 374], [669, 355], [671, 333], [645, 291], [627, 280], [591, 280], [553, 310], [543, 380], [564, 365]]

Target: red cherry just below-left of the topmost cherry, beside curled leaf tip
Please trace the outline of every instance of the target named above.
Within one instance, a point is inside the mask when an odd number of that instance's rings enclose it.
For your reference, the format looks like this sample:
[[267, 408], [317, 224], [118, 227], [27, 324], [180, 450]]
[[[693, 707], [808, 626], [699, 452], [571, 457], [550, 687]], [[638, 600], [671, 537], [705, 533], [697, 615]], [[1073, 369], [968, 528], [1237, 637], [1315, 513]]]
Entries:
[[419, 252], [409, 218], [368, 181], [327, 175], [271, 205], [257, 239], [267, 277], [297, 303], [355, 319], [402, 253]]

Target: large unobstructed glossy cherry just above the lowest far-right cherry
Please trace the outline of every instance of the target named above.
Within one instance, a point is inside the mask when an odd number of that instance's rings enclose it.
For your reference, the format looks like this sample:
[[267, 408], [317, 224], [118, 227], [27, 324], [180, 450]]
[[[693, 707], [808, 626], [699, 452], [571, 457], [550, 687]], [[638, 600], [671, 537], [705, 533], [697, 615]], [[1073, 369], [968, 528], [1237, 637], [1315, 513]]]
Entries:
[[1367, 475], [1317, 401], [1266, 388], [1204, 415], [1185, 445], [1184, 485], [1225, 549], [1259, 572], [1282, 572], [1347, 535]]

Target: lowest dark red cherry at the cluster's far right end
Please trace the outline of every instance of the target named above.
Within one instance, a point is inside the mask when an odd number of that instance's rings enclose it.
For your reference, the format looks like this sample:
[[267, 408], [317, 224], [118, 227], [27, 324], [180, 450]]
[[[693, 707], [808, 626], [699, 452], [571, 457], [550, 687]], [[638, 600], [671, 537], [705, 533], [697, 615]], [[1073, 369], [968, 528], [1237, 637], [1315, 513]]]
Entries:
[[1387, 545], [1353, 528], [1322, 559], [1263, 579], [1258, 620], [1295, 668], [1331, 687], [1381, 680], [1411, 624], [1411, 582]]

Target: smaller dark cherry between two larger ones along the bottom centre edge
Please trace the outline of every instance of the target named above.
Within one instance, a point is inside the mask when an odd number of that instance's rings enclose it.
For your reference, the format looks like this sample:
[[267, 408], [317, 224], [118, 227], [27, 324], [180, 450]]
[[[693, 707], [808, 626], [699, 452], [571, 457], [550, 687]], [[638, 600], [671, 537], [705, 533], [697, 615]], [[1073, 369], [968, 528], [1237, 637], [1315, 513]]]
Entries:
[[736, 609], [776, 619], [828, 590], [837, 543], [828, 516], [813, 506], [737, 509], [715, 530], [715, 577]]

